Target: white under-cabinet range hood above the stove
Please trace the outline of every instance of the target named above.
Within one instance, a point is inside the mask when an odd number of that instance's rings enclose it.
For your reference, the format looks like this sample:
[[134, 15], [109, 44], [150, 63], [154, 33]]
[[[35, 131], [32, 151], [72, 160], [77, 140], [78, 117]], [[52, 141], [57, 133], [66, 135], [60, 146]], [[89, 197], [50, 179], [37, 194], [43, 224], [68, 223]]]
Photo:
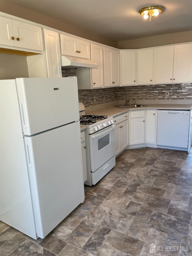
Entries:
[[98, 68], [99, 65], [89, 59], [61, 56], [61, 67]]

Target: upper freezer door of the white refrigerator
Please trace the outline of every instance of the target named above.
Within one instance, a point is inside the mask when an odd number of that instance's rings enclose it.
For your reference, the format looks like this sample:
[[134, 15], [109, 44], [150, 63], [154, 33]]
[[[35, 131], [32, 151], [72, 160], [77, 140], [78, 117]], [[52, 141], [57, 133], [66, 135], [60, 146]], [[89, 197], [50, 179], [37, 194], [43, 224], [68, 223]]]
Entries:
[[16, 78], [16, 86], [25, 135], [79, 120], [76, 77]]

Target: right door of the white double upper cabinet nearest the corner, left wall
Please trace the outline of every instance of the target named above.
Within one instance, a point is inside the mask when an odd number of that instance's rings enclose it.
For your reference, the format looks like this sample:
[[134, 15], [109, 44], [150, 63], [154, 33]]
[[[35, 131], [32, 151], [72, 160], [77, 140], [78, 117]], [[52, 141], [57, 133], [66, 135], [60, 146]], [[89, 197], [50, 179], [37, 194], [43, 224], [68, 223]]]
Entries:
[[112, 84], [113, 86], [120, 85], [120, 52], [113, 50], [112, 54]]

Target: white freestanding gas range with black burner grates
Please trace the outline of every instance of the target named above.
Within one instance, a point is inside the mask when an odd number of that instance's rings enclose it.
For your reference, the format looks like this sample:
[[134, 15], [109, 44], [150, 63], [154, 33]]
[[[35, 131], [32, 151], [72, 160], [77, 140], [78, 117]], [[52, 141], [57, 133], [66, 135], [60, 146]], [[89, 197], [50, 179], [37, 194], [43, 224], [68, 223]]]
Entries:
[[79, 103], [80, 124], [86, 125], [85, 145], [87, 163], [86, 185], [95, 185], [116, 164], [115, 125], [107, 116], [85, 115], [85, 107]]

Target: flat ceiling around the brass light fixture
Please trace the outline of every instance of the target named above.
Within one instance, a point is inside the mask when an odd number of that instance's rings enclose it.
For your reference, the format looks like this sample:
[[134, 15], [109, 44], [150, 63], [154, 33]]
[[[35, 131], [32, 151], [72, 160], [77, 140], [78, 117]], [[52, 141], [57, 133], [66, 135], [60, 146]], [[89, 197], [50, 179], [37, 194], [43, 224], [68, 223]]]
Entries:
[[[7, 1], [115, 41], [192, 30], [192, 0]], [[148, 5], [164, 6], [151, 22], [138, 12]]]

